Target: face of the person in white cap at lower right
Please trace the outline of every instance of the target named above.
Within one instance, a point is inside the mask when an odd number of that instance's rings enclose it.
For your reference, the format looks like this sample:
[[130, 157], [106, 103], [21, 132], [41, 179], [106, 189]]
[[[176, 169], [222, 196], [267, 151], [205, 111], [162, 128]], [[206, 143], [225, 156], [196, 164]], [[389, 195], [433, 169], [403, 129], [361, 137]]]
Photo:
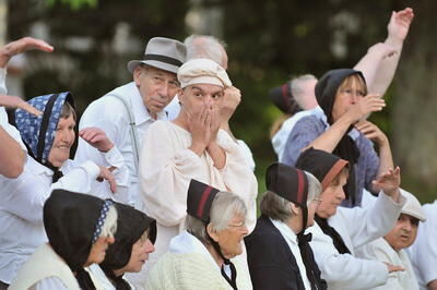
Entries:
[[383, 239], [399, 252], [414, 243], [417, 235], [418, 219], [406, 214], [401, 214], [394, 228]]

